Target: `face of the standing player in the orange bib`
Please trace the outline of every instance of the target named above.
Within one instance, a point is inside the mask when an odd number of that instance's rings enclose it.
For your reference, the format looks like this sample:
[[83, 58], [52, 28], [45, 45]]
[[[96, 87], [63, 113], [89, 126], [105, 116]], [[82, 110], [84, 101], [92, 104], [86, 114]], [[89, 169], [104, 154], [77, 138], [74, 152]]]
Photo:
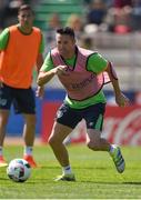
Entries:
[[18, 19], [19, 19], [19, 23], [22, 28], [24, 28], [24, 29], [32, 28], [33, 13], [30, 10], [20, 11]]

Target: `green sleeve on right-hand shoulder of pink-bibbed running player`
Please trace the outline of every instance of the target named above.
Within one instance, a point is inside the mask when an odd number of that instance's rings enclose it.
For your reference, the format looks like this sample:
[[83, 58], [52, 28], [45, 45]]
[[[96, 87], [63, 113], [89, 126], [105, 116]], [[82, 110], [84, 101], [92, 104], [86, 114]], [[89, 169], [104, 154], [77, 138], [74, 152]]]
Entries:
[[107, 66], [107, 59], [104, 59], [100, 53], [93, 53], [89, 57], [87, 69], [98, 74], [104, 71]]

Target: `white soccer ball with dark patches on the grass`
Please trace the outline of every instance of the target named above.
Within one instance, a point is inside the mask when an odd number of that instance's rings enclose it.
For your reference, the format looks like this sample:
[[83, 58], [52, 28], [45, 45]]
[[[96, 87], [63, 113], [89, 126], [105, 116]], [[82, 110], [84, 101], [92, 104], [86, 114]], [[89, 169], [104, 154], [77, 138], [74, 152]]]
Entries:
[[23, 159], [13, 159], [7, 168], [7, 174], [14, 182], [24, 182], [31, 174], [31, 167]]

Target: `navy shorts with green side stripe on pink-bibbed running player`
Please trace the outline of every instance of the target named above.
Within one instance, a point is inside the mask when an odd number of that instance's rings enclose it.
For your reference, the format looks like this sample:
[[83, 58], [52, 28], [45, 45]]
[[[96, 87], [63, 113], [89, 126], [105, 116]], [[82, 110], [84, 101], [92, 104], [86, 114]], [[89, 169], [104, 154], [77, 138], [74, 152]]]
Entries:
[[84, 109], [72, 109], [63, 103], [58, 112], [57, 122], [72, 129], [82, 120], [85, 120], [87, 129], [102, 130], [105, 103], [97, 103]]

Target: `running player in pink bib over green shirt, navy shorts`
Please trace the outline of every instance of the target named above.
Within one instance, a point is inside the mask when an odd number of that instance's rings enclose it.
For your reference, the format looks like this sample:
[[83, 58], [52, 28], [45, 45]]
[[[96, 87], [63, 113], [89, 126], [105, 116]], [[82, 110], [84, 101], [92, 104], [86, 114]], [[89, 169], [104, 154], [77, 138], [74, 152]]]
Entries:
[[67, 91], [49, 137], [49, 144], [62, 167], [62, 174], [56, 180], [75, 180], [63, 140], [82, 119], [87, 123], [87, 146], [94, 151], [108, 151], [118, 172], [122, 173], [125, 162], [120, 148], [101, 138], [105, 110], [103, 84], [112, 83], [119, 107], [129, 104], [113, 66], [100, 53], [78, 47], [74, 31], [69, 27], [58, 29], [56, 40], [57, 47], [48, 53], [38, 77], [38, 84], [43, 86], [57, 74]]

